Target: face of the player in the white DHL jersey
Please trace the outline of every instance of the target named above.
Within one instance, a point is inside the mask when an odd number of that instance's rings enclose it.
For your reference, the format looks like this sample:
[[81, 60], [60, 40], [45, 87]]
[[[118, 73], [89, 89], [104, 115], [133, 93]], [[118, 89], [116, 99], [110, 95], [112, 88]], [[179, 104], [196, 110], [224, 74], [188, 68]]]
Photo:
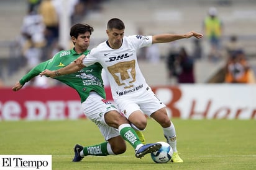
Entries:
[[113, 28], [112, 30], [107, 30], [107, 35], [109, 36], [109, 45], [111, 48], [118, 49], [121, 47], [124, 30]]

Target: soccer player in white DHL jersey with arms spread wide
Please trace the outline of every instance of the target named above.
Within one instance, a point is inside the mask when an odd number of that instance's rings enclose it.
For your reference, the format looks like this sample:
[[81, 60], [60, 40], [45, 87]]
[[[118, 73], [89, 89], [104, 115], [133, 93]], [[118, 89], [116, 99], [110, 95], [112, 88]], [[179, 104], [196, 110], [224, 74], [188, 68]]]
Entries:
[[129, 119], [132, 127], [144, 130], [147, 125], [147, 116], [152, 117], [163, 128], [163, 135], [173, 149], [171, 161], [182, 163], [176, 148], [176, 132], [170, 121], [165, 104], [153, 93], [140, 71], [136, 52], [137, 49], [150, 46], [154, 43], [168, 43], [183, 38], [202, 38], [201, 33], [194, 31], [185, 34], [160, 34], [153, 36], [132, 35], [124, 36], [125, 25], [120, 19], [111, 19], [107, 22], [106, 33], [109, 40], [93, 48], [89, 54], [82, 55], [69, 66], [55, 71], [44, 70], [41, 74], [55, 77], [70, 74], [99, 62], [106, 70], [112, 91], [112, 97]]

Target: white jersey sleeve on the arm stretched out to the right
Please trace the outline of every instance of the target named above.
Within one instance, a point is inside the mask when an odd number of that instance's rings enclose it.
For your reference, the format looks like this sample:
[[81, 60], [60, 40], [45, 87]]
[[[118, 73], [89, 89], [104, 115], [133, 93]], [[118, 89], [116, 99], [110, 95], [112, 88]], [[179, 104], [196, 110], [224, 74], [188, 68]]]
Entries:
[[128, 38], [130, 39], [129, 42], [132, 43], [136, 49], [152, 45], [152, 36], [150, 35], [132, 35], [128, 36]]

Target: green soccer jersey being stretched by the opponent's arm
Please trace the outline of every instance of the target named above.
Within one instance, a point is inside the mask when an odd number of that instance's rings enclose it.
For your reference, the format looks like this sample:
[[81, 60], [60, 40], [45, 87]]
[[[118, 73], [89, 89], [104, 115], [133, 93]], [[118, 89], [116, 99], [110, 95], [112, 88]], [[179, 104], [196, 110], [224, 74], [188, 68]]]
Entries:
[[[86, 50], [83, 54], [88, 54], [89, 50]], [[41, 62], [39, 65], [35, 66], [30, 70], [22, 79], [19, 81], [21, 85], [29, 82], [33, 77], [40, 74], [45, 69], [48, 70], [58, 70], [62, 67], [67, 66], [75, 59], [77, 59], [81, 54], [76, 53], [74, 49], [68, 51], [60, 51], [52, 59], [48, 61]], [[90, 91], [96, 91], [102, 98], [106, 98], [106, 93], [104, 90], [103, 80], [101, 78], [101, 70], [103, 67], [97, 62], [89, 67], [84, 67], [79, 72], [68, 75], [61, 75], [54, 77], [60, 82], [74, 88], [80, 95], [81, 102], [86, 100], [89, 96]]]

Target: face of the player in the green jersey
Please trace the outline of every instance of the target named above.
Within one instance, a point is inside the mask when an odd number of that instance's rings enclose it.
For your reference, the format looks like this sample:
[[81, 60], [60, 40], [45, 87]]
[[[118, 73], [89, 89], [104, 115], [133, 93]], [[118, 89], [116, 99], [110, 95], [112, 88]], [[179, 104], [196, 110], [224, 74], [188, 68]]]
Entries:
[[89, 32], [78, 35], [77, 38], [73, 38], [72, 41], [75, 42], [75, 48], [78, 50], [77, 53], [83, 53], [89, 47], [89, 40], [91, 34]]

